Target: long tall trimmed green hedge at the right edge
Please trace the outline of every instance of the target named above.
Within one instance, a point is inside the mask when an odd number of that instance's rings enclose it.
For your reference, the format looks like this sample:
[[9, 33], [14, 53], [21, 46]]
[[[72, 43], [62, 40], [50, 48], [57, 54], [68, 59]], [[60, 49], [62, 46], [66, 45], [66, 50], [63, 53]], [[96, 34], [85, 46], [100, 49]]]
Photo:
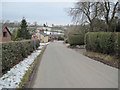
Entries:
[[120, 56], [120, 33], [89, 32], [85, 35], [86, 49]]

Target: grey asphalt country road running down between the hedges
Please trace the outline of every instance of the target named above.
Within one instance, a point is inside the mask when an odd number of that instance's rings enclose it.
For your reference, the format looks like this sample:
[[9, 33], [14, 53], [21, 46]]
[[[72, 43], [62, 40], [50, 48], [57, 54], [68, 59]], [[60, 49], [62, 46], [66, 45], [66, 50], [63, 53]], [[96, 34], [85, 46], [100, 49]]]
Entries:
[[56, 41], [47, 46], [31, 87], [118, 88], [118, 69]]

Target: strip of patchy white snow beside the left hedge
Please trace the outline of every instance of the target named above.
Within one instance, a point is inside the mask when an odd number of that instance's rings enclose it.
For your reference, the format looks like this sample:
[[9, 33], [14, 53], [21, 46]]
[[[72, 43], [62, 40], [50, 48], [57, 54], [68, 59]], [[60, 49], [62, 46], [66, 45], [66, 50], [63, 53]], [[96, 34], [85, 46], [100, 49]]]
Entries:
[[[41, 45], [42, 44], [42, 45]], [[40, 43], [41, 46], [38, 49], [42, 49], [44, 45], [49, 43]], [[35, 58], [41, 53], [41, 50], [35, 50], [31, 55], [15, 65], [6, 74], [0, 78], [0, 90], [2, 88], [19, 88], [21, 79], [30, 68], [30, 65], [34, 62]]]

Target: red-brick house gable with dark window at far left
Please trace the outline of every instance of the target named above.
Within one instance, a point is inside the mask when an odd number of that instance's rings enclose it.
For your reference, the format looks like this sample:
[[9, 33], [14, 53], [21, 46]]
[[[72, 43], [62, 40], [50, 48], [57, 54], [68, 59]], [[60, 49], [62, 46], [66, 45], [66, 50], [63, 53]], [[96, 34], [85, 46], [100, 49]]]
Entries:
[[9, 29], [5, 26], [2, 26], [2, 30], [0, 32], [0, 42], [8, 42], [11, 41], [12, 34]]

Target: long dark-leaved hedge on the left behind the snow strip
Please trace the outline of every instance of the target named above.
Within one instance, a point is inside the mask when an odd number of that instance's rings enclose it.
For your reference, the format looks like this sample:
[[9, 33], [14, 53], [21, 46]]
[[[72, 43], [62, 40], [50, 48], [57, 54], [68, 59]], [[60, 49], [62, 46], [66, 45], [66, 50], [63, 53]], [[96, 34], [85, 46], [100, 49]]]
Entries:
[[[36, 40], [36, 47], [39, 46]], [[2, 72], [9, 70], [12, 66], [19, 63], [23, 58], [33, 52], [34, 40], [15, 41], [2, 43]]]

